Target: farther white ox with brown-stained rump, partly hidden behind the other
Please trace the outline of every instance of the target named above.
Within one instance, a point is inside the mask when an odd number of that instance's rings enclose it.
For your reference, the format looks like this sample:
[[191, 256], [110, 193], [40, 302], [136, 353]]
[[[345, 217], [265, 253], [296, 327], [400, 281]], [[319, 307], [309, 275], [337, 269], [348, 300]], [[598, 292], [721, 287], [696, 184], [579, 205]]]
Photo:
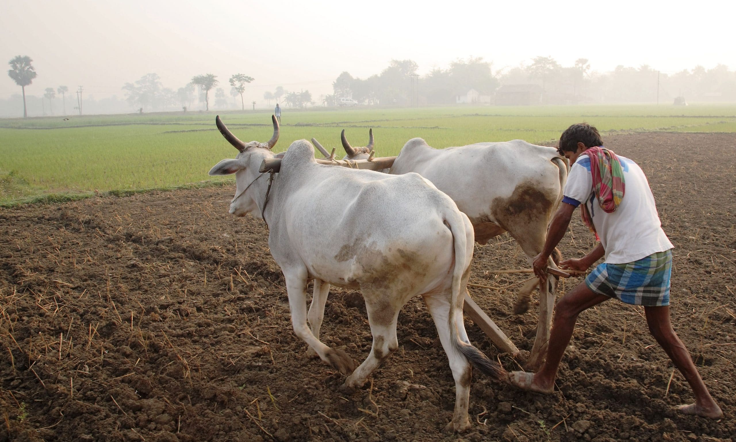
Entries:
[[[341, 139], [347, 152], [344, 159], [368, 158], [375, 147], [372, 130], [366, 147], [352, 147], [344, 130]], [[416, 172], [427, 178], [470, 218], [475, 242], [484, 245], [508, 231], [530, 263], [544, 247], [547, 226], [562, 200], [567, 180], [565, 157], [553, 147], [523, 140], [434, 149], [422, 138], [412, 138], [404, 144], [391, 169], [384, 171], [392, 175]], [[559, 252], [555, 259], [559, 259]], [[552, 260], [550, 267], [556, 268]], [[537, 340], [528, 362], [531, 368], [542, 363], [547, 348], [557, 279], [551, 277], [548, 281], [548, 295], [541, 300]], [[537, 284], [535, 278], [522, 288], [515, 313], [526, 312]]]

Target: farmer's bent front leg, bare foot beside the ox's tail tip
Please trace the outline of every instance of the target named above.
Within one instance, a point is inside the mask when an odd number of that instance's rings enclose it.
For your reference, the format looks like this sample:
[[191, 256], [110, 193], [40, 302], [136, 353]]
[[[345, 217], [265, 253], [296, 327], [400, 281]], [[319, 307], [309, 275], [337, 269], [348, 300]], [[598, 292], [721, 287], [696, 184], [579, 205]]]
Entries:
[[552, 332], [550, 333], [545, 362], [539, 368], [539, 371], [533, 375], [525, 371], [512, 372], [509, 375], [512, 384], [524, 390], [551, 393], [559, 362], [562, 361], [562, 354], [565, 353], [567, 343], [570, 343], [570, 337], [573, 336], [578, 315], [583, 310], [590, 309], [590, 307], [609, 299], [608, 296], [592, 292], [585, 281], [582, 281], [573, 290], [560, 298], [554, 308]]

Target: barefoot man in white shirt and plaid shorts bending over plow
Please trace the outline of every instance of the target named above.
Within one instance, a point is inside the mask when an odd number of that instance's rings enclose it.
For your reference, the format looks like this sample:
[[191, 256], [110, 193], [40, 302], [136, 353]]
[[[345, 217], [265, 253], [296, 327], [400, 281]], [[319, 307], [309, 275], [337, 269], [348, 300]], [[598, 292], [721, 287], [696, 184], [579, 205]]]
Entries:
[[539, 371], [514, 371], [509, 380], [524, 390], [552, 393], [562, 354], [580, 312], [616, 298], [644, 306], [649, 332], [693, 389], [695, 404], [681, 405], [677, 410], [721, 418], [721, 408], [713, 401], [670, 323], [673, 245], [662, 231], [649, 183], [634, 161], [615, 155], [602, 144], [598, 130], [585, 123], [573, 124], [560, 136], [559, 153], [570, 160], [572, 167], [545, 248], [534, 259], [534, 273], [546, 280], [547, 259], [565, 235], [578, 206], [583, 222], [600, 242], [583, 258], [567, 259], [561, 267], [587, 270], [602, 256], [606, 259], [557, 302], [546, 360]]

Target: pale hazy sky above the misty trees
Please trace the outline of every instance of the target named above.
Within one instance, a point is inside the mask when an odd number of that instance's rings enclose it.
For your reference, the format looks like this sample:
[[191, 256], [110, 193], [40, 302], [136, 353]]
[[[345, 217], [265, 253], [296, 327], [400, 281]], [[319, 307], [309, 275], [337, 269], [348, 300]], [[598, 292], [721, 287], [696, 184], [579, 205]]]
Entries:
[[[155, 72], [176, 90], [196, 74], [255, 78], [246, 99], [283, 85], [331, 93], [342, 71], [379, 73], [392, 58], [420, 74], [458, 57], [494, 71], [539, 55], [592, 69], [648, 64], [663, 72], [723, 63], [736, 69], [736, 1], [1, 1], [0, 60], [29, 55], [26, 88], [83, 85], [96, 98]], [[687, 6], [684, 6], [687, 5]], [[7, 66], [7, 65], [3, 65]], [[4, 68], [7, 71], [7, 67]], [[20, 88], [6, 75], [0, 97]], [[228, 94], [229, 97], [229, 94]]]

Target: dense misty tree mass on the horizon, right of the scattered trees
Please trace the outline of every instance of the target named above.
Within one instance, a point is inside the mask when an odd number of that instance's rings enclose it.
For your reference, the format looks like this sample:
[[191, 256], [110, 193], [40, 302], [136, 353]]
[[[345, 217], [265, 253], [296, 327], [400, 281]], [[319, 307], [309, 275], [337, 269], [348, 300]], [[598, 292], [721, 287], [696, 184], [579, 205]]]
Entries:
[[[392, 60], [380, 74], [365, 79], [345, 71], [333, 82], [333, 94], [322, 105], [336, 105], [350, 97], [365, 105], [439, 105], [458, 102], [500, 104], [497, 98], [516, 94], [527, 102], [516, 104], [581, 104], [598, 102], [672, 103], [676, 97], [693, 102], [736, 101], [736, 71], [718, 65], [696, 66], [676, 74], [659, 73], [648, 65], [617, 66], [613, 71], [591, 69], [585, 58], [561, 66], [552, 57], [492, 72], [481, 57], [455, 60], [447, 69], [417, 75], [412, 60]], [[513, 100], [512, 100], [513, 101]], [[530, 102], [531, 101], [531, 102]], [[509, 102], [506, 104], [514, 104]]]

